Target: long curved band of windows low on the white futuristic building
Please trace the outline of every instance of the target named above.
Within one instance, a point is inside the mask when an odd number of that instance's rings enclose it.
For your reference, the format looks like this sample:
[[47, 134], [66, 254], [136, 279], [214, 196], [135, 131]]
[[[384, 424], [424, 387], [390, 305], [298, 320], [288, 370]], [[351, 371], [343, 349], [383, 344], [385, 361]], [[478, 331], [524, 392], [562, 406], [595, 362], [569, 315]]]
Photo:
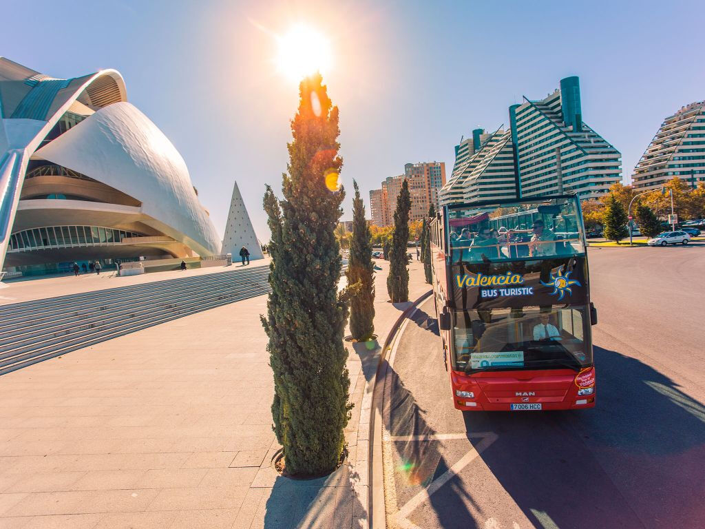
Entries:
[[125, 237], [142, 237], [142, 233], [103, 226], [46, 226], [13, 233], [10, 236], [8, 252], [120, 244]]

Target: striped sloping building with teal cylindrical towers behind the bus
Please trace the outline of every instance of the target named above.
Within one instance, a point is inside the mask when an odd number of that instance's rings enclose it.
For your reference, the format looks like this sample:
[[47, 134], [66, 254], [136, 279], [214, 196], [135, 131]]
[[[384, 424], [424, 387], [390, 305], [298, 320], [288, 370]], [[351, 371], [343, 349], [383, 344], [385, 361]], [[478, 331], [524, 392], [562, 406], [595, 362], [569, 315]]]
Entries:
[[563, 193], [592, 199], [621, 180], [620, 152], [582, 121], [577, 77], [545, 99], [524, 97], [509, 108], [509, 124], [491, 134], [473, 130], [455, 147], [443, 204]]

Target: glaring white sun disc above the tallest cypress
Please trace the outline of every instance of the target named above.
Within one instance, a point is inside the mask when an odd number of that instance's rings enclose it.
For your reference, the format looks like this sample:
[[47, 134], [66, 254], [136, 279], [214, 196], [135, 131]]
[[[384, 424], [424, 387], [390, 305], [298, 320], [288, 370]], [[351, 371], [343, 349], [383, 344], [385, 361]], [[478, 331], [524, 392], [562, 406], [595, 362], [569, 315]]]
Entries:
[[316, 71], [326, 73], [331, 67], [331, 43], [316, 30], [295, 25], [276, 37], [278, 70], [298, 83]]

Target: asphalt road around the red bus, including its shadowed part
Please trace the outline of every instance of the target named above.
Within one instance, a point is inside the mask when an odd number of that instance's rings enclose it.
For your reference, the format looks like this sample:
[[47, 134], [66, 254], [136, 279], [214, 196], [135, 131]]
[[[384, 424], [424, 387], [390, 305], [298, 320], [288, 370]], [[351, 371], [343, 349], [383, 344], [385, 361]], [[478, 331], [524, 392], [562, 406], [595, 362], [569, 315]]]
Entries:
[[[591, 248], [597, 406], [456, 411], [432, 300], [388, 378], [393, 527], [705, 527], [705, 248]], [[390, 485], [393, 483], [393, 485]]]

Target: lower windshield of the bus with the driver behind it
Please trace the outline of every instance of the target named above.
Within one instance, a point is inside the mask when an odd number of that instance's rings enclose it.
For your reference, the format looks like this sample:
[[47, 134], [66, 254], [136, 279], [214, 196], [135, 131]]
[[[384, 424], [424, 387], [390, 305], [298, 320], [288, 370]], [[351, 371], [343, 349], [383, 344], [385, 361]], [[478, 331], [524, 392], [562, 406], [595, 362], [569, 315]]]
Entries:
[[582, 305], [493, 308], [454, 314], [456, 371], [566, 367], [578, 371], [592, 365], [589, 317]]

